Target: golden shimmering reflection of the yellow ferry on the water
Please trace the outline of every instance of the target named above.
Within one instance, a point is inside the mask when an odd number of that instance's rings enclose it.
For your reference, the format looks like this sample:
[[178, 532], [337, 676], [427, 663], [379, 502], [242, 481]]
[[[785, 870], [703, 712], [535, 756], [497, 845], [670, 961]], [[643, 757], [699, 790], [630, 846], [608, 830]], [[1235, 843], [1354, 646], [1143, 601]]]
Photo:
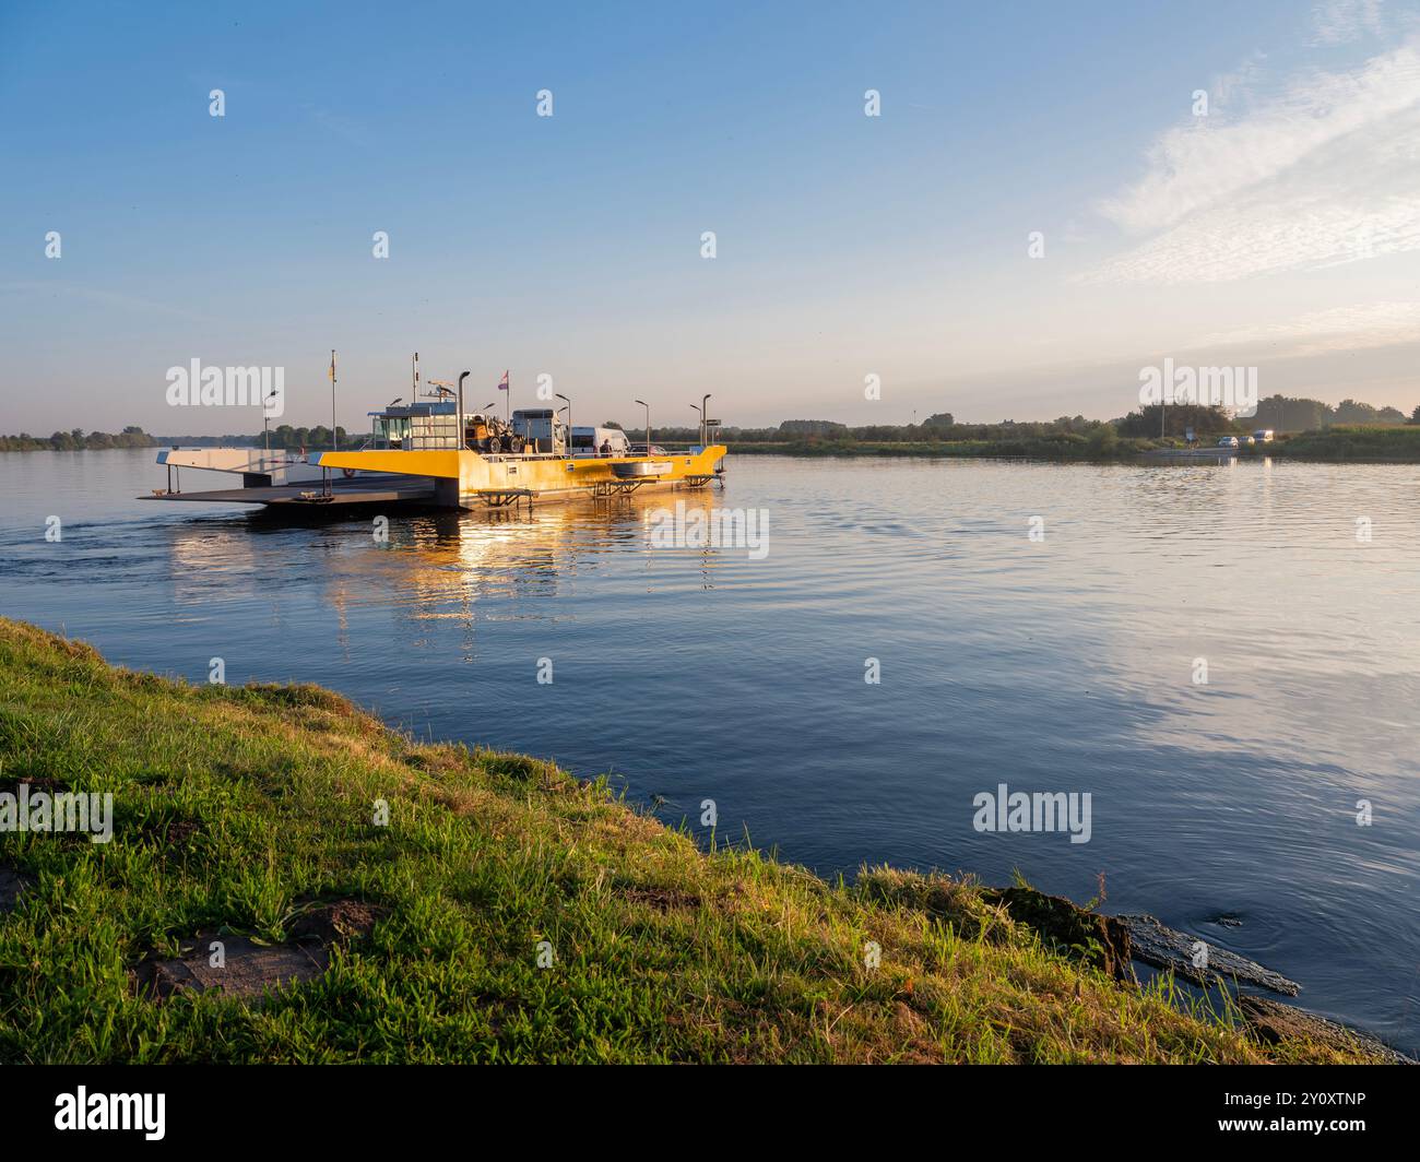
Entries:
[[[697, 588], [713, 590], [728, 558], [743, 563], [746, 551], [709, 540], [655, 548], [650, 534], [657, 517], [677, 504], [686, 516], [699, 511], [709, 523], [720, 492], [579, 500], [535, 506], [531, 513], [395, 514], [382, 527], [375, 517], [328, 524], [290, 524], [264, 514], [192, 520], [166, 526], [169, 577], [175, 604], [193, 619], [210, 617], [217, 605], [254, 602], [268, 609], [277, 629], [293, 617], [310, 615], [310, 582], [315, 582], [322, 607], [337, 618], [345, 663], [358, 661], [351, 625], [361, 609], [388, 612], [405, 626], [399, 632], [386, 628], [381, 635], [386, 648], [396, 642], [406, 651], [432, 648], [429, 624], [456, 625], [462, 658], [474, 662], [480, 618], [551, 624], [575, 618], [554, 599], [575, 597], [577, 582], [598, 580], [611, 563], [625, 578], [628, 554], [640, 561], [646, 594], [657, 587], [686, 588], [689, 570]], [[293, 541], [300, 541], [300, 553], [293, 553]], [[554, 642], [544, 644], [551, 648]]]

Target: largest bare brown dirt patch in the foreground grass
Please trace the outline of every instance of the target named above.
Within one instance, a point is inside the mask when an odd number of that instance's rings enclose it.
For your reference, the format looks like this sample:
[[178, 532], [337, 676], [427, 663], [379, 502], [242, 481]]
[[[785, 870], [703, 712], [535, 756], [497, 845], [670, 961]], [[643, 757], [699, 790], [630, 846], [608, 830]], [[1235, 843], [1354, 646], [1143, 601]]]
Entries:
[[267, 990], [290, 989], [320, 977], [331, 966], [331, 949], [369, 935], [385, 912], [358, 899], [314, 905], [295, 918], [290, 925], [291, 939], [280, 945], [199, 932], [190, 945], [183, 942], [182, 956], [139, 965], [133, 983], [152, 1000], [210, 992], [263, 997]]

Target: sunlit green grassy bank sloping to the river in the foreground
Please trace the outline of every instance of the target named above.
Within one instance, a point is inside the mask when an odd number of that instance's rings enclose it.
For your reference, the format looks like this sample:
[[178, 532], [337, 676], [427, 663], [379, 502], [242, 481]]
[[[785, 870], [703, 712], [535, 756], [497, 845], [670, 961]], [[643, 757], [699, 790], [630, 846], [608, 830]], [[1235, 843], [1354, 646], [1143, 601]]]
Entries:
[[[17, 780], [112, 793], [114, 837], [0, 835], [27, 884], [0, 916], [9, 1063], [1349, 1060], [1118, 984], [970, 885], [707, 855], [534, 759], [419, 744], [318, 688], [114, 669], [0, 619]], [[196, 933], [277, 943], [337, 899], [373, 923], [308, 983], [143, 984]]]

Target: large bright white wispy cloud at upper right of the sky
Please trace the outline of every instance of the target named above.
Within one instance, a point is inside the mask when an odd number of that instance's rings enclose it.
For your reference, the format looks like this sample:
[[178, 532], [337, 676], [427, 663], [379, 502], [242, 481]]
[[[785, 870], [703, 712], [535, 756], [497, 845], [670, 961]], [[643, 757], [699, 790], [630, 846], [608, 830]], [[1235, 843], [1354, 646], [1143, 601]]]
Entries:
[[1100, 205], [1132, 249], [1089, 283], [1210, 283], [1420, 249], [1420, 40], [1164, 132]]

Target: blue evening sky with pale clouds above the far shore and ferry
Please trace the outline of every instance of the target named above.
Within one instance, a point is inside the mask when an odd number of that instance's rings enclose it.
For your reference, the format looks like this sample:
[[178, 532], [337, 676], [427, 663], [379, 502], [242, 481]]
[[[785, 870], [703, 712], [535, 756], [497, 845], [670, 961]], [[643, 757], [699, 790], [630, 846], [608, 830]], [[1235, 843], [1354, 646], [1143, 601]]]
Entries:
[[193, 358], [321, 422], [332, 347], [352, 428], [415, 349], [626, 422], [1420, 403], [1414, 6], [510, 9], [0, 7], [0, 429], [260, 428]]

